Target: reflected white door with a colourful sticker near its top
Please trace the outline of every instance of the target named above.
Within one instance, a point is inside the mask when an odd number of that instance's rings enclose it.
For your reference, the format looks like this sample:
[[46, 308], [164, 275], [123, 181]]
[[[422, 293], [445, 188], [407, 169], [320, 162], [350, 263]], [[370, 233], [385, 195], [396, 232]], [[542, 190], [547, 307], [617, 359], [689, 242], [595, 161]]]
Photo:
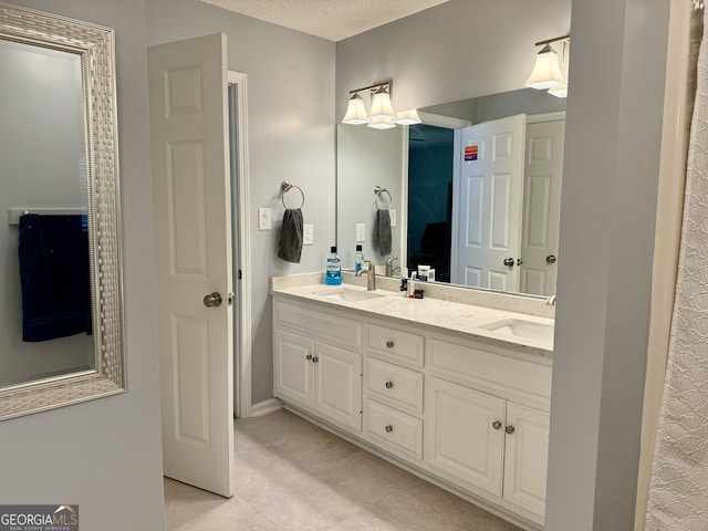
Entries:
[[525, 114], [462, 128], [454, 283], [519, 291], [524, 129]]

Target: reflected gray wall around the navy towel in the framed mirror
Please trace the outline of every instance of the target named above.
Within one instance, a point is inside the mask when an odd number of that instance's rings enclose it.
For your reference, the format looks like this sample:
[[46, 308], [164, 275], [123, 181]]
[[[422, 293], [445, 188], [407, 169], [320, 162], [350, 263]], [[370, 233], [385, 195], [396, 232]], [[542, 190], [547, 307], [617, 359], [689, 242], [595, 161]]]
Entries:
[[7, 387], [91, 369], [94, 348], [86, 333], [23, 341], [18, 256], [19, 212], [86, 212], [80, 55], [2, 41], [0, 70], [0, 387]]

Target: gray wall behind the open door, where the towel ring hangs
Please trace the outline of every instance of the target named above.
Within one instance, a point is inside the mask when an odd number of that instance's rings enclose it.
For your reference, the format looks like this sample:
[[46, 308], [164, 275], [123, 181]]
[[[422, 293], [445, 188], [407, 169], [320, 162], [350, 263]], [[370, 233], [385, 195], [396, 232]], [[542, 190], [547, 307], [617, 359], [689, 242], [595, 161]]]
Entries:
[[[252, 398], [273, 396], [272, 275], [323, 271], [334, 244], [334, 43], [196, 0], [148, 0], [148, 45], [226, 33], [229, 69], [248, 75], [251, 205]], [[305, 195], [314, 246], [301, 263], [277, 258], [283, 206], [280, 183]], [[273, 230], [258, 230], [258, 207], [271, 207]]]

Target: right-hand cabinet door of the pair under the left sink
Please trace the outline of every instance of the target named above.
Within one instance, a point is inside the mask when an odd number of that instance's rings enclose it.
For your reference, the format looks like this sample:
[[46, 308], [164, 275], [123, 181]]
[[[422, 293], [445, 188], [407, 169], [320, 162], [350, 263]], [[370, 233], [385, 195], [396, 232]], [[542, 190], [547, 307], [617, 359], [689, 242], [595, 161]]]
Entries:
[[327, 417], [362, 430], [362, 356], [315, 343], [315, 404]]

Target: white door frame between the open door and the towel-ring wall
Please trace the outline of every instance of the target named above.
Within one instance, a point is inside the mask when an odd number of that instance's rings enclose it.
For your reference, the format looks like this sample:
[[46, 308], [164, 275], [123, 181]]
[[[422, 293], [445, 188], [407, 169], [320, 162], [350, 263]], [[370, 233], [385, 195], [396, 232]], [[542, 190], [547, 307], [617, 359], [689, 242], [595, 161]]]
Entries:
[[[229, 137], [229, 148], [238, 153], [238, 168], [231, 168], [231, 176], [235, 169], [237, 181], [231, 188], [235, 196], [236, 211], [231, 210], [231, 222], [238, 231], [235, 238], [235, 256], [237, 256], [238, 268], [233, 270], [233, 292], [236, 304], [233, 312], [233, 341], [235, 363], [233, 363], [233, 415], [240, 418], [252, 416], [251, 397], [251, 209], [249, 191], [249, 164], [248, 164], [248, 90], [247, 75], [232, 70], [228, 71], [228, 84], [236, 88], [236, 140]], [[241, 278], [238, 278], [241, 271]]]

